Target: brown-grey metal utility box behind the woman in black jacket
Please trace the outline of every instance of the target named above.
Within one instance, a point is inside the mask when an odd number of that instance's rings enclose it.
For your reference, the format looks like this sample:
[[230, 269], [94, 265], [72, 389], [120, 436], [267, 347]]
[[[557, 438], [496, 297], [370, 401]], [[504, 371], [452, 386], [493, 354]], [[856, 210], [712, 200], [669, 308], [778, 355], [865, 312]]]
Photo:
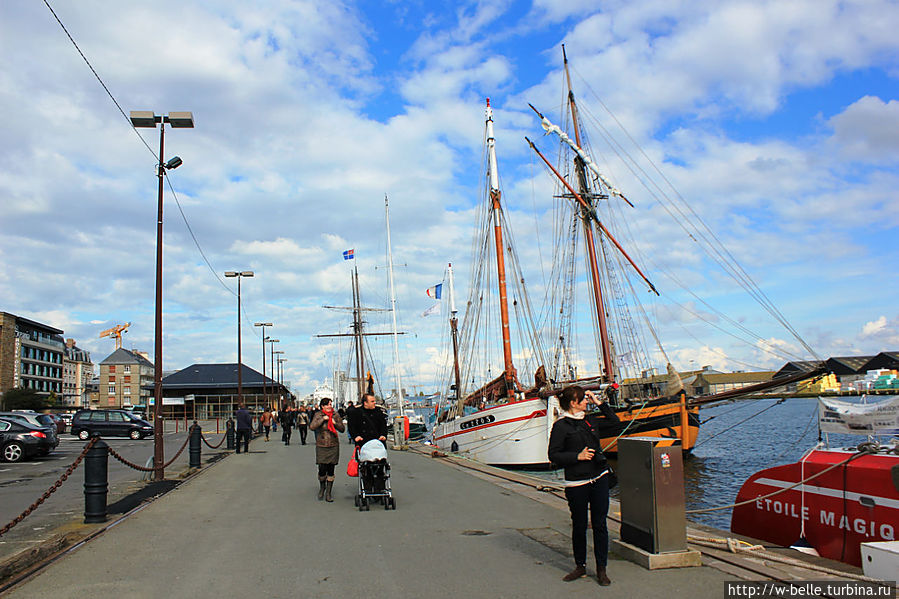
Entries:
[[680, 439], [618, 440], [621, 540], [649, 553], [687, 549]]

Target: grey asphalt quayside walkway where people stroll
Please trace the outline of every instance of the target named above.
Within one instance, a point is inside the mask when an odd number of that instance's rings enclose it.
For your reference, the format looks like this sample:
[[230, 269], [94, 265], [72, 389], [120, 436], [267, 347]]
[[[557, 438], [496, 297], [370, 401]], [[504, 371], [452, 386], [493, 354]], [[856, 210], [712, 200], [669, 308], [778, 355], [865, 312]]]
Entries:
[[734, 579], [709, 567], [650, 572], [612, 554], [612, 586], [565, 583], [566, 511], [439, 459], [390, 452], [396, 511], [359, 512], [348, 445], [334, 503], [319, 502], [314, 448], [279, 437], [254, 440], [249, 454], [207, 468], [8, 596], [720, 599]]

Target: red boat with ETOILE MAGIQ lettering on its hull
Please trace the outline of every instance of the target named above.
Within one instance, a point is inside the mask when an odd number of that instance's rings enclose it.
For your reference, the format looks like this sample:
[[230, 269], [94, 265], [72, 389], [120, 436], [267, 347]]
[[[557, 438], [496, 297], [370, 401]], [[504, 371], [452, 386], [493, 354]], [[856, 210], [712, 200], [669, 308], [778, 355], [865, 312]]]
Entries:
[[749, 503], [734, 508], [731, 530], [784, 547], [804, 536], [819, 555], [861, 566], [861, 543], [899, 531], [899, 445], [863, 447], [816, 447], [755, 473], [737, 494], [735, 503]]

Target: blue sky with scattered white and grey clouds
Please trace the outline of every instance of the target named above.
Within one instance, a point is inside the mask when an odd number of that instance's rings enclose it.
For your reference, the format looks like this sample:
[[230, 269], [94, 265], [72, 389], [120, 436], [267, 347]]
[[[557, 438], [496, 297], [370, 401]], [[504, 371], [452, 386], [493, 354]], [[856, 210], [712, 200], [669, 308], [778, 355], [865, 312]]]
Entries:
[[[363, 302], [389, 306], [386, 195], [404, 386], [437, 390], [445, 319], [421, 316], [425, 289], [452, 262], [467, 293], [488, 97], [506, 214], [532, 301], [547, 295], [553, 187], [524, 136], [553, 151], [528, 103], [561, 119], [565, 44], [589, 124], [651, 160], [815, 355], [895, 351], [897, 26], [894, 0], [8, 0], [0, 310], [63, 329], [97, 363], [114, 349], [100, 331], [130, 322], [124, 346], [152, 354], [159, 139], [125, 115], [191, 111], [194, 129], [165, 132], [183, 165], [165, 189], [164, 370], [237, 360], [230, 270], [255, 272], [246, 364], [261, 369], [253, 323], [272, 322], [297, 393], [346, 367], [346, 344], [315, 335], [347, 331], [323, 306], [350, 305], [353, 264]], [[650, 233], [632, 250], [670, 298], [658, 314], [677, 368], [777, 369], [786, 354], [769, 347], [812, 357], [712, 273], [602, 136], [591, 147]], [[756, 341], [696, 334], [703, 308], [666, 272]], [[371, 344], [389, 386], [389, 338]]]

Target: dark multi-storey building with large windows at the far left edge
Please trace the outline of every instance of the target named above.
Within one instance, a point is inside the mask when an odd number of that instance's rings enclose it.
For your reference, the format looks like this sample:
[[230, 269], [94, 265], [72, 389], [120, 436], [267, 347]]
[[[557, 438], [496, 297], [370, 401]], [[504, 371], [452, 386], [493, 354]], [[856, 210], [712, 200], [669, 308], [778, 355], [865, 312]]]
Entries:
[[0, 393], [23, 388], [61, 396], [62, 334], [55, 327], [0, 312]]

